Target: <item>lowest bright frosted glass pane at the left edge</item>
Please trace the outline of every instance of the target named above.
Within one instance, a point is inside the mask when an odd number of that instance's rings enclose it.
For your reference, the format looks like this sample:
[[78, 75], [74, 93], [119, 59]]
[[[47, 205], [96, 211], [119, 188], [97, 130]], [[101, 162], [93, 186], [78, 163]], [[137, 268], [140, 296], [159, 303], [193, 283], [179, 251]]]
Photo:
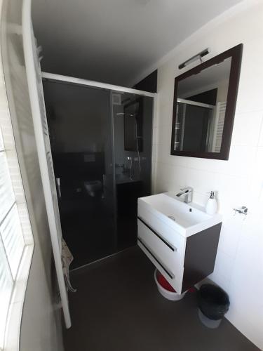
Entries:
[[4, 343], [6, 317], [13, 289], [13, 279], [8, 267], [4, 246], [0, 238], [0, 349]]

